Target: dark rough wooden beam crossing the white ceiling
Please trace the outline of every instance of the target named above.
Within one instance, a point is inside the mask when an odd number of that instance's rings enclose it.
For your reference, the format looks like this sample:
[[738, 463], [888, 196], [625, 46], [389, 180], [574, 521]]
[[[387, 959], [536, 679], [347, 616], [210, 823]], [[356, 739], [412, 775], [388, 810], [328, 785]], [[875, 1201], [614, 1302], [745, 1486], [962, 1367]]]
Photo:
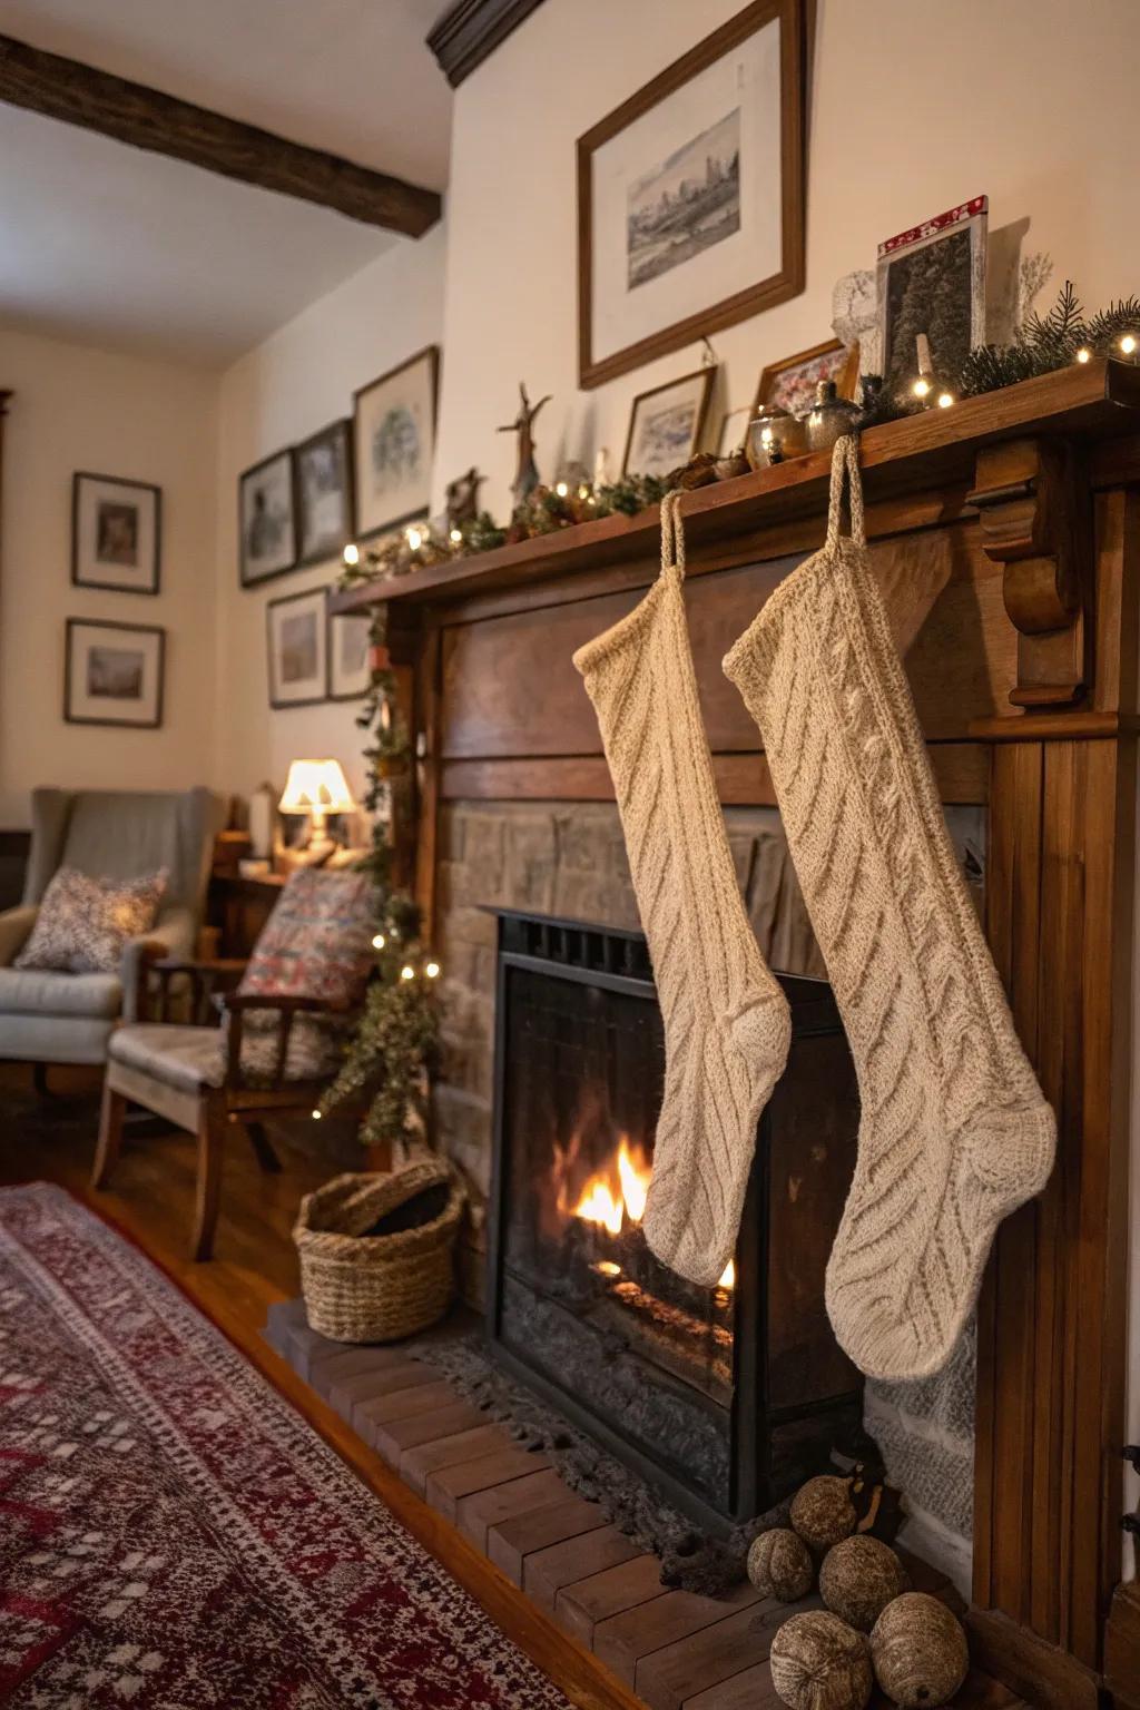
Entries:
[[12, 36], [0, 36], [0, 101], [408, 238], [420, 238], [434, 226], [443, 207], [434, 190], [287, 142]]

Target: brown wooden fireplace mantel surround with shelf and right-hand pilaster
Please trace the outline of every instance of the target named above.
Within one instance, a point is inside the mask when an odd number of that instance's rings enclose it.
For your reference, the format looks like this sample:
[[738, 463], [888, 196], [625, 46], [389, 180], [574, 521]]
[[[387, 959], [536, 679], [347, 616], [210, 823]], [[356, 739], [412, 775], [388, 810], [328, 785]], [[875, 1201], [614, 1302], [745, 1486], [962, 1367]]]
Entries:
[[[1053, 1178], [1003, 1224], [979, 1305], [974, 1645], [1031, 1703], [1094, 1710], [1125, 1510], [1140, 369], [1092, 361], [872, 429], [861, 463], [942, 799], [988, 812], [986, 934], [1058, 1115]], [[820, 544], [827, 465], [684, 499], [726, 804], [776, 799], [720, 660]], [[656, 528], [655, 511], [610, 516], [337, 597], [388, 607], [417, 737], [405, 858], [429, 930], [448, 800], [612, 800], [571, 653], [653, 581]]]

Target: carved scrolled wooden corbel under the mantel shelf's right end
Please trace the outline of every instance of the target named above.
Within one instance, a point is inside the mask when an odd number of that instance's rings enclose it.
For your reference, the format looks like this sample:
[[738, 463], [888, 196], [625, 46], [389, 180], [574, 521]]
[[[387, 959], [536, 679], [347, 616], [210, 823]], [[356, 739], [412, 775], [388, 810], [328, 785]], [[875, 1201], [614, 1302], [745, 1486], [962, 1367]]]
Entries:
[[1089, 682], [1089, 530], [1063, 443], [1012, 439], [978, 453], [974, 491], [988, 559], [1005, 566], [1017, 629], [1014, 706], [1072, 706]]

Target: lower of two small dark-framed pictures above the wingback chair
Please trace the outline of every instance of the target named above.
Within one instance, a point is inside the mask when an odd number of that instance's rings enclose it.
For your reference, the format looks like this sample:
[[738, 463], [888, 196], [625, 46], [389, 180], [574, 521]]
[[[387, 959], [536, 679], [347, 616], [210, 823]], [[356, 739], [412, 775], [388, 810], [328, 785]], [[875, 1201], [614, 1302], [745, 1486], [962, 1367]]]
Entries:
[[68, 617], [63, 662], [63, 718], [68, 725], [162, 723], [166, 629]]

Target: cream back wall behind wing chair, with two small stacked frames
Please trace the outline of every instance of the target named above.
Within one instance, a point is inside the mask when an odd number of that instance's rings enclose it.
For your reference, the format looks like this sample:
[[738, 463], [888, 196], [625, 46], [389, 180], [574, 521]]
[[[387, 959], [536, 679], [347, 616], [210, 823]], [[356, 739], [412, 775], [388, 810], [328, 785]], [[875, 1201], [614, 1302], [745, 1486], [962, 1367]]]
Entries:
[[[29, 823], [38, 783], [185, 788], [212, 781], [217, 376], [0, 328], [0, 826]], [[157, 598], [73, 588], [72, 472], [162, 487]], [[63, 722], [67, 617], [161, 624], [161, 730]]]

